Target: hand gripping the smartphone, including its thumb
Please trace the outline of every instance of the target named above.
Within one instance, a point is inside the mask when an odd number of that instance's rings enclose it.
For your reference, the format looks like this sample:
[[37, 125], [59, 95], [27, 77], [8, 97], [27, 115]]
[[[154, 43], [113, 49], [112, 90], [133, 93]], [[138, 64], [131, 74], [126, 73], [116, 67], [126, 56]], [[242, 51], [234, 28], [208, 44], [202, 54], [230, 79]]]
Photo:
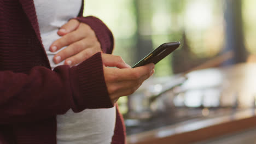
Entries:
[[121, 57], [108, 54], [102, 54], [102, 61], [105, 82], [113, 104], [119, 97], [134, 93], [144, 80], [154, 74], [153, 63], [131, 69]]

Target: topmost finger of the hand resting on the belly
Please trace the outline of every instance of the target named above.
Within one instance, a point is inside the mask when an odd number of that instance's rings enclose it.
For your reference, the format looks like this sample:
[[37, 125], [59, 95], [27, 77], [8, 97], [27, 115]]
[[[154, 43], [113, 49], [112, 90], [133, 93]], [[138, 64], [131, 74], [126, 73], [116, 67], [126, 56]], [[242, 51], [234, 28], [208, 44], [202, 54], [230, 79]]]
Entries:
[[70, 21], [68, 21], [65, 25], [63, 25], [59, 31], [57, 32], [57, 34], [59, 34], [60, 36], [63, 36], [67, 33], [70, 33], [72, 31], [75, 31], [75, 29], [77, 29], [79, 26], [79, 21], [72, 19]]

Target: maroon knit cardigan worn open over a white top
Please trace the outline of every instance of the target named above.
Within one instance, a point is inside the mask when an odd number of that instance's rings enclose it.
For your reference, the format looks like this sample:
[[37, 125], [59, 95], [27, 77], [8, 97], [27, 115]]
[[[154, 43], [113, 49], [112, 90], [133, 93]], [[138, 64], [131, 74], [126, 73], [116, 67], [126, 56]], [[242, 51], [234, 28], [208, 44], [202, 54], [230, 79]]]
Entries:
[[[96, 17], [82, 14], [83, 6], [77, 19], [94, 29], [102, 50], [111, 53], [112, 33]], [[100, 53], [75, 67], [51, 70], [33, 0], [0, 0], [1, 144], [54, 144], [56, 115], [112, 106]], [[118, 111], [112, 143], [125, 143]]]

